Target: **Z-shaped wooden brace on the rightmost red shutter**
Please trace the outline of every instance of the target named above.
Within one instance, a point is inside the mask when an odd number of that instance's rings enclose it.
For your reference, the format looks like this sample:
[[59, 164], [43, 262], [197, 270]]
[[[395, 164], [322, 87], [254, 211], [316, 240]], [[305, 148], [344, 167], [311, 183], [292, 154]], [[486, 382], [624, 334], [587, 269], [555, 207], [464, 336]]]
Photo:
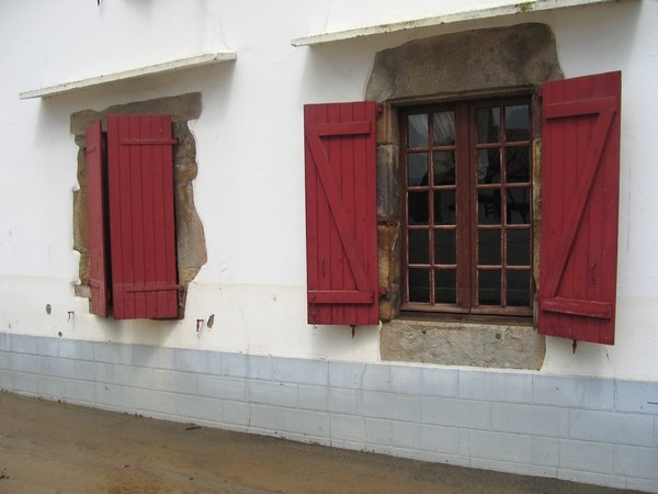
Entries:
[[[578, 180], [578, 188], [574, 195], [574, 200], [571, 201], [570, 207], [568, 209], [568, 211], [571, 211], [572, 214], [569, 214], [569, 217], [564, 225], [553, 265], [548, 270], [551, 274], [545, 280], [545, 295], [542, 300], [542, 310], [544, 311], [567, 312], [570, 314], [608, 319], [612, 318], [612, 306], [609, 303], [602, 302], [602, 306], [597, 306], [595, 308], [589, 307], [590, 310], [588, 310], [588, 304], [572, 304], [569, 302], [578, 301], [569, 301], [561, 297], [556, 297], [555, 295], [557, 293], [559, 282], [564, 276], [569, 252], [571, 251], [571, 248], [576, 242], [576, 233], [578, 232], [578, 226], [582, 220], [588, 198], [592, 189], [593, 179], [597, 170], [599, 169], [599, 164], [601, 162], [605, 139], [610, 128], [612, 127], [613, 117], [616, 112], [616, 100], [614, 98], [602, 98], [599, 100], [588, 101], [587, 104], [583, 104], [582, 108], [576, 111], [574, 111], [572, 108], [569, 110], [569, 103], [551, 104], [545, 109], [544, 115], [546, 119], [559, 119], [565, 116], [586, 115], [593, 113], [598, 113], [599, 116], [597, 119], [592, 139], [587, 150], [586, 162], [583, 167], [585, 169], [582, 176]], [[563, 305], [565, 304], [570, 305], [569, 310], [563, 311]], [[577, 308], [578, 305], [580, 305], [580, 308]]]

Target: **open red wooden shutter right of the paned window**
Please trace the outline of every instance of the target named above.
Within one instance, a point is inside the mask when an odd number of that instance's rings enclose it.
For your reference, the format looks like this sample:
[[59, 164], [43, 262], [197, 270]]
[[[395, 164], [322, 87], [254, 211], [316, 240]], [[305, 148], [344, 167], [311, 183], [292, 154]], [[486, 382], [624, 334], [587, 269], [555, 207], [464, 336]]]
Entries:
[[540, 333], [614, 344], [621, 72], [543, 94]]

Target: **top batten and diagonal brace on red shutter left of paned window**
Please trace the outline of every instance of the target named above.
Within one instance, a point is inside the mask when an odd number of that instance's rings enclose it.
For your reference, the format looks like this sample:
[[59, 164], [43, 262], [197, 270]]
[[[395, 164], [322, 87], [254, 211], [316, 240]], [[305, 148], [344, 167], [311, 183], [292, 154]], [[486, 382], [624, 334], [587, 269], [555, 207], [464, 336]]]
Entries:
[[[374, 294], [367, 281], [367, 274], [365, 272], [363, 261], [359, 255], [358, 243], [350, 234], [349, 220], [340, 200], [340, 191], [336, 184], [333, 172], [329, 166], [329, 157], [327, 156], [327, 151], [325, 146], [322, 146], [322, 141], [320, 137], [360, 135], [370, 134], [370, 132], [371, 124], [367, 121], [306, 125], [306, 139], [313, 154], [320, 181], [322, 182], [327, 201], [330, 204], [331, 214], [333, 216], [333, 221], [336, 222], [336, 227], [338, 229], [341, 244], [348, 258], [348, 262], [350, 263], [352, 274], [354, 276], [354, 282], [356, 283], [358, 292], [352, 293], [362, 292], [362, 294], [367, 295], [363, 301], [361, 301], [361, 303], [372, 302]], [[320, 303], [319, 300], [317, 302]]]

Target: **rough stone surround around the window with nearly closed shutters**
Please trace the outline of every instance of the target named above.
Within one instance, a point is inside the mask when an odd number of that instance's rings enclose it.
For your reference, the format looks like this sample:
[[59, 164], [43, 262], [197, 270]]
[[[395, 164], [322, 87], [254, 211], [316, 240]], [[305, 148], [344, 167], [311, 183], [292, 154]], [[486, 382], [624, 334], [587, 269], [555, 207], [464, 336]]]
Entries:
[[[203, 224], [194, 205], [193, 181], [196, 178], [196, 144], [188, 122], [201, 115], [201, 93], [159, 98], [149, 101], [113, 105], [102, 111], [83, 110], [71, 114], [70, 128], [78, 149], [78, 184], [73, 191], [73, 249], [80, 252], [79, 279], [76, 295], [90, 299], [89, 288], [89, 225], [87, 217], [87, 159], [84, 156], [87, 127], [105, 116], [123, 114], [169, 114], [172, 117], [173, 190], [175, 210], [178, 279], [183, 289], [179, 292], [179, 318], [183, 318], [186, 288], [207, 261]], [[109, 319], [111, 321], [111, 319]]]

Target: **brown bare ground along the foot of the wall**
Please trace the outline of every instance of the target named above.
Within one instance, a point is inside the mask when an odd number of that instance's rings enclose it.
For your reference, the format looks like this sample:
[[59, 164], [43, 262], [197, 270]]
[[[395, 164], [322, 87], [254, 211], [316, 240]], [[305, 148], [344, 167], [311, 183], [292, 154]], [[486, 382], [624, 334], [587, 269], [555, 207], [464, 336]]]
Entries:
[[0, 493], [617, 493], [0, 393]]

